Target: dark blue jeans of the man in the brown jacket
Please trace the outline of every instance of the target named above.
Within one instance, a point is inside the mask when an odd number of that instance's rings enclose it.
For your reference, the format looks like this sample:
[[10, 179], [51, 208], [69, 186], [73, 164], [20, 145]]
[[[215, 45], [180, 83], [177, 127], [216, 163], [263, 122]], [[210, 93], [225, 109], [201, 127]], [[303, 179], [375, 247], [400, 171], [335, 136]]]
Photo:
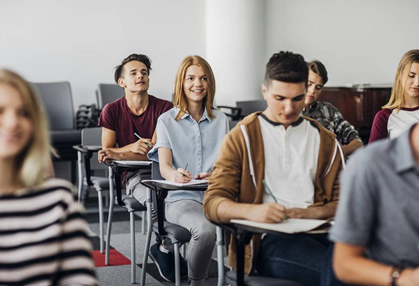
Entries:
[[320, 285], [327, 234], [267, 234], [260, 241], [256, 270], [262, 276]]

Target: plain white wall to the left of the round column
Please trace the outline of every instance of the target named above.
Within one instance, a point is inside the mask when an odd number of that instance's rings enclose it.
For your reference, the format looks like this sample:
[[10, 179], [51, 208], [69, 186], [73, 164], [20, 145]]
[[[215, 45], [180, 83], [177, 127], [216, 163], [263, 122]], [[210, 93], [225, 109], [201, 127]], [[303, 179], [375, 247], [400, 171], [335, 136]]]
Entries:
[[34, 82], [68, 80], [75, 107], [131, 53], [151, 57], [150, 94], [171, 99], [186, 55], [205, 57], [205, 1], [0, 0], [0, 67]]

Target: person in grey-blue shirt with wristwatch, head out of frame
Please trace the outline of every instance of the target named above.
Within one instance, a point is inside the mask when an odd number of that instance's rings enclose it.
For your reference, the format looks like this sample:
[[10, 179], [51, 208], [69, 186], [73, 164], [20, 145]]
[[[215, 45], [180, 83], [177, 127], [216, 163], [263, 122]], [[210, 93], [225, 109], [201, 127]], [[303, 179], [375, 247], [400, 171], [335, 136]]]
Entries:
[[419, 123], [355, 153], [341, 177], [330, 231], [337, 277], [355, 285], [419, 285]]

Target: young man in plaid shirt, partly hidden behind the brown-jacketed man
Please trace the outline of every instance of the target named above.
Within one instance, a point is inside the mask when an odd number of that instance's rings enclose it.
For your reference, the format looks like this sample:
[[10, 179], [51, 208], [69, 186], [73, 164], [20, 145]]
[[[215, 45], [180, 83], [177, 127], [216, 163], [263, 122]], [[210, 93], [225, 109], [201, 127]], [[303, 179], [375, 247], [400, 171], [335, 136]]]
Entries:
[[337, 140], [343, 146], [346, 156], [362, 147], [360, 134], [344, 119], [339, 110], [326, 101], [317, 101], [324, 85], [328, 82], [328, 71], [325, 66], [317, 61], [307, 63], [309, 66], [309, 84], [304, 101], [302, 115], [320, 122], [323, 127], [336, 134]]

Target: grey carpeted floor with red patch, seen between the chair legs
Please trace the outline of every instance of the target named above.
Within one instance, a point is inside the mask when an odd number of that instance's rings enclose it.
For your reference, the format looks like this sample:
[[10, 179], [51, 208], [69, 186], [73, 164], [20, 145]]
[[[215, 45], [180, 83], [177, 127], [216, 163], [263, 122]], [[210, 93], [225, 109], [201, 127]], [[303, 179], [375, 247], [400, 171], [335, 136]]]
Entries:
[[[132, 285], [131, 284], [131, 237], [129, 229], [129, 215], [124, 208], [115, 208], [114, 219], [112, 222], [112, 235], [110, 238], [110, 265], [105, 266], [105, 254], [99, 251], [99, 224], [98, 224], [98, 209], [97, 200], [89, 199], [85, 205], [87, 210], [87, 220], [89, 221], [89, 229], [92, 244], [94, 245], [94, 252], [92, 253], [95, 265], [96, 274], [100, 281], [100, 285], [115, 286], [115, 285]], [[105, 208], [107, 209], [107, 208]], [[138, 214], [140, 215], [140, 213]], [[108, 213], [105, 212], [105, 229], [108, 221]], [[142, 258], [144, 255], [145, 234], [141, 234], [141, 219], [135, 215], [135, 258], [136, 258], [136, 283], [140, 284]], [[152, 238], [154, 243], [154, 237]], [[226, 258], [224, 259], [226, 264]], [[218, 270], [216, 264], [216, 251], [210, 270], [208, 271], [208, 278], [205, 280], [205, 285], [217, 285]], [[156, 269], [156, 266], [151, 259], [147, 262], [147, 277], [146, 285], [175, 285], [175, 283], [168, 283], [161, 276]], [[187, 280], [182, 280], [181, 285], [188, 285]]]

